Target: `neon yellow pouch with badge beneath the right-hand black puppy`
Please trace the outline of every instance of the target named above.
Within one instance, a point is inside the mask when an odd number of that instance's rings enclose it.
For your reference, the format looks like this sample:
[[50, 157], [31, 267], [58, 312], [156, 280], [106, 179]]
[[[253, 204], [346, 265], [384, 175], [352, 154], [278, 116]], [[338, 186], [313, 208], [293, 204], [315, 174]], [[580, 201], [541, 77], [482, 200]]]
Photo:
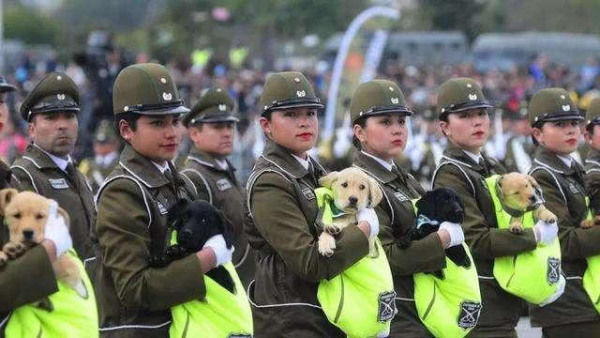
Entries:
[[[413, 200], [416, 212], [415, 203]], [[469, 247], [462, 246], [473, 262]], [[477, 325], [481, 313], [477, 269], [474, 263], [465, 268], [446, 257], [443, 272], [444, 279], [427, 273], [413, 275], [417, 313], [435, 337], [464, 337]]]

